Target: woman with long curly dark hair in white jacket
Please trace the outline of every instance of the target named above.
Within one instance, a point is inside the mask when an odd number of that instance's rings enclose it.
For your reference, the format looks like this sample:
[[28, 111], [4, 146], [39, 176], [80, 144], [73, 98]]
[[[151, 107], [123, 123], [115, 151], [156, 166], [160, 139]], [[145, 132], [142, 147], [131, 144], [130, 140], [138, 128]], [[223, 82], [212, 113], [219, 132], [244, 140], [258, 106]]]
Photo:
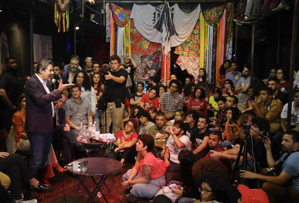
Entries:
[[[85, 99], [91, 106], [93, 117], [97, 115], [97, 96], [96, 92], [90, 84], [89, 77], [85, 71], [78, 71], [74, 76], [73, 84], [77, 84], [81, 87], [82, 94], [81, 99]], [[70, 94], [72, 95], [72, 94]]]

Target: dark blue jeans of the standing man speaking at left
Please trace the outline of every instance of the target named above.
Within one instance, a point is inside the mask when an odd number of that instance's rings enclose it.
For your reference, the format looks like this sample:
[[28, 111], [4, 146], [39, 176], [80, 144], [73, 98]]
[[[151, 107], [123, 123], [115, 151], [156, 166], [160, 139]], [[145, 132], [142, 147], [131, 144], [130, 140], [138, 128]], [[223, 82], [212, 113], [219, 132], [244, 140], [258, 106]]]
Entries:
[[31, 158], [28, 163], [34, 178], [42, 181], [45, 177], [38, 177], [39, 170], [44, 168], [50, 152], [53, 130], [49, 133], [27, 132], [30, 141]]

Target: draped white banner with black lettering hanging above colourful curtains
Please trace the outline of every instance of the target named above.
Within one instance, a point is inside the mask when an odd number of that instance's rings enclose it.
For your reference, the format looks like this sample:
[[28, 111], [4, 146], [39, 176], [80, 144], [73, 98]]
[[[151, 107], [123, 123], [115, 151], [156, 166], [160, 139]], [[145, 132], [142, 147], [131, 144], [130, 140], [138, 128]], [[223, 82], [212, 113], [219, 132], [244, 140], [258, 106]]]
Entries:
[[138, 32], [152, 42], [165, 46], [164, 55], [170, 47], [182, 44], [190, 36], [200, 14], [200, 4], [190, 13], [184, 13], [174, 4], [165, 1], [162, 9], [148, 5], [133, 5], [130, 18]]

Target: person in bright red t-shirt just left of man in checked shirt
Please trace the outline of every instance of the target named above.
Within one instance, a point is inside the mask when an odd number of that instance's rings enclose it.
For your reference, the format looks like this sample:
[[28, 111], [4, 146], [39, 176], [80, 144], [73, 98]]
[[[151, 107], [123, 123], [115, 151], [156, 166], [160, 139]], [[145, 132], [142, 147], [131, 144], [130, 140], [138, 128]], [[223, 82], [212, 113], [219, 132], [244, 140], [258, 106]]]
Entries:
[[152, 87], [149, 93], [143, 94], [140, 100], [140, 106], [148, 111], [150, 107], [159, 109], [159, 99], [157, 98], [159, 90], [156, 87]]

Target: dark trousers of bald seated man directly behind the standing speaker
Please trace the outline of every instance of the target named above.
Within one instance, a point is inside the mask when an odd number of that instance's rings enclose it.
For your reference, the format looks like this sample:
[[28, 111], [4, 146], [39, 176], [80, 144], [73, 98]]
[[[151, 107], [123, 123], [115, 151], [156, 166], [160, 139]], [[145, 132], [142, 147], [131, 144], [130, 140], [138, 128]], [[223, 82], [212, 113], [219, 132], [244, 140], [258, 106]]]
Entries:
[[64, 131], [65, 125], [61, 124], [56, 126], [52, 142], [54, 145], [58, 147], [58, 134], [60, 137], [60, 146], [62, 147], [64, 153], [64, 162], [65, 164], [69, 164], [73, 161], [73, 149], [75, 149], [75, 159], [80, 159], [80, 155], [85, 155], [83, 147], [79, 144], [79, 142], [75, 141], [74, 136], [70, 131]]

